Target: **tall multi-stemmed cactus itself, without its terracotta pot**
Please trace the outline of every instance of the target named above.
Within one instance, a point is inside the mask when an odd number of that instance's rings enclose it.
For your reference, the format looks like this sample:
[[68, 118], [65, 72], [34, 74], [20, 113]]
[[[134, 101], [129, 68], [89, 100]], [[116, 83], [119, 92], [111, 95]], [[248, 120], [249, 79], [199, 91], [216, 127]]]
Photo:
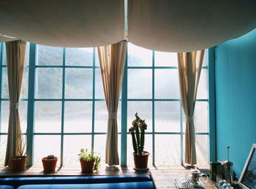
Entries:
[[129, 128], [129, 132], [132, 134], [134, 153], [142, 155], [145, 145], [145, 130], [147, 129], [147, 124], [145, 120], [142, 120], [138, 116], [138, 112], [136, 112], [135, 117], [135, 120], [132, 121], [132, 127]]

